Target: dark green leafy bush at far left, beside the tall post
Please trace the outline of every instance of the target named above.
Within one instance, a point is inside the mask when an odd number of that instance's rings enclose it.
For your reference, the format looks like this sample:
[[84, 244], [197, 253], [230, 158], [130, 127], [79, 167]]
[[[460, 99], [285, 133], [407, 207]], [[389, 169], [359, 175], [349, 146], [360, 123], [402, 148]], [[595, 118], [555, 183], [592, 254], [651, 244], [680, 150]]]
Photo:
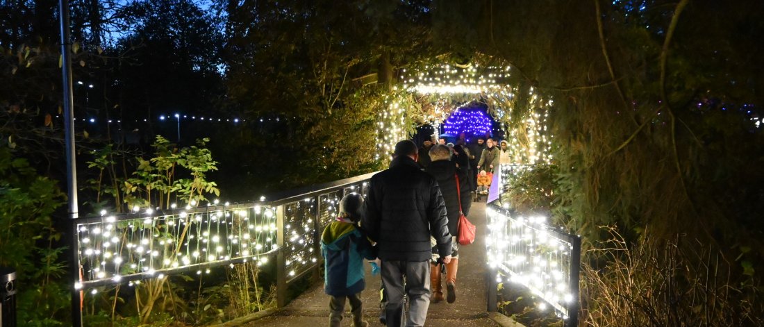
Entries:
[[51, 216], [65, 196], [28, 161], [0, 147], [0, 266], [16, 270], [21, 325], [54, 326], [68, 308], [64, 248]]

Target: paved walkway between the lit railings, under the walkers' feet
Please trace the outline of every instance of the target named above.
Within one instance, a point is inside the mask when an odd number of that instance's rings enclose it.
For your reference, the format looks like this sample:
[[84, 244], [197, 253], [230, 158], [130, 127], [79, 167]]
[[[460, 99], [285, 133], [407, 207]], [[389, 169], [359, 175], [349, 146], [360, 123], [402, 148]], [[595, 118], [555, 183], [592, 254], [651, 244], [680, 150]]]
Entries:
[[[430, 304], [426, 326], [468, 327], [500, 326], [489, 319], [486, 312], [486, 264], [485, 264], [485, 203], [472, 202], [470, 221], [478, 226], [478, 236], [474, 244], [459, 249], [459, 270], [457, 277], [457, 298], [455, 303]], [[369, 265], [367, 264], [367, 269]], [[379, 322], [379, 276], [371, 276], [367, 270], [367, 287], [362, 293], [364, 316], [371, 326], [381, 326]], [[445, 280], [444, 280], [445, 281]], [[445, 287], [444, 287], [445, 291]], [[349, 305], [345, 305], [346, 315], [343, 325], [351, 325]], [[316, 283], [309, 290], [294, 299], [283, 310], [274, 315], [245, 324], [248, 327], [318, 327], [329, 324], [329, 296], [323, 292], [323, 284]]]

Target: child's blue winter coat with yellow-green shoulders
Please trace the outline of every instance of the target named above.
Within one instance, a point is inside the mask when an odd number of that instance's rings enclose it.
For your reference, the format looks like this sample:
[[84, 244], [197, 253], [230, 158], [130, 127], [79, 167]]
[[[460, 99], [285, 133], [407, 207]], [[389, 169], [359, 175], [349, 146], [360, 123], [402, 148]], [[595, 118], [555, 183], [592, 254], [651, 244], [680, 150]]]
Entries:
[[364, 258], [376, 258], [364, 232], [350, 222], [332, 222], [321, 235], [321, 254], [327, 294], [347, 296], [364, 290]]

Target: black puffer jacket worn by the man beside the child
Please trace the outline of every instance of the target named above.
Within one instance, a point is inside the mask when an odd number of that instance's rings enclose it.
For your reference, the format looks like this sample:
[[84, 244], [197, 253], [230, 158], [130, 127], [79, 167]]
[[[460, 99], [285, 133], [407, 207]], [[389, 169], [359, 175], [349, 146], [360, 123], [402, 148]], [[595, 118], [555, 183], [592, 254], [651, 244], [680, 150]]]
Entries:
[[371, 176], [367, 196], [361, 227], [377, 242], [380, 259], [428, 261], [432, 257], [430, 235], [440, 255], [451, 254], [440, 187], [413, 159], [399, 156], [390, 168]]

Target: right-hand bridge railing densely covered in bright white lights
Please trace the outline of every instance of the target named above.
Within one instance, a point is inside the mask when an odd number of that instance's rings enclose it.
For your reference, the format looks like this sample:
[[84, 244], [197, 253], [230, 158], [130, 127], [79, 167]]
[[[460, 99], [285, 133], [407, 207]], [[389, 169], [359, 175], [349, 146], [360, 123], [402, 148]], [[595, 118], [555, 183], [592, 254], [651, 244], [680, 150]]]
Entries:
[[[497, 311], [498, 283], [515, 283], [549, 303], [566, 326], [578, 325], [581, 238], [554, 228], [542, 215], [523, 215], [502, 201], [508, 181], [525, 165], [502, 165], [488, 203], [486, 250], [490, 267], [488, 311]], [[503, 203], [502, 203], [503, 202]], [[540, 308], [543, 309], [543, 308]]]

